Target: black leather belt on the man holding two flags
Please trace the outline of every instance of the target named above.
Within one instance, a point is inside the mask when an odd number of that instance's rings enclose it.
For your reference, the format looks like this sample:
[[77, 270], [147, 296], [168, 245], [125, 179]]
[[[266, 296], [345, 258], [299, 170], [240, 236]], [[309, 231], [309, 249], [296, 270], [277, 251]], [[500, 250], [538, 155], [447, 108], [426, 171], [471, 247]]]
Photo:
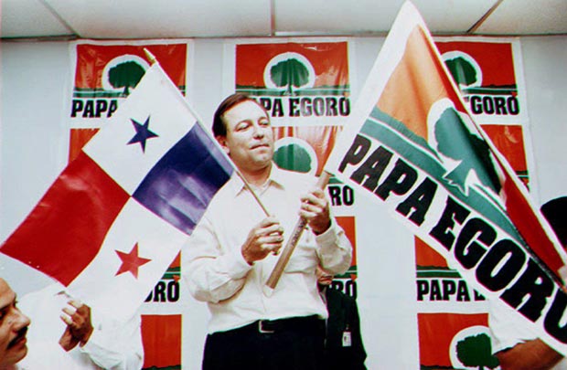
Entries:
[[[234, 333], [262, 333], [273, 334], [283, 332], [299, 332], [299, 333], [313, 333], [316, 331], [325, 330], [325, 321], [319, 319], [317, 315], [305, 317], [291, 317], [288, 319], [278, 320], [259, 320], [242, 326], [241, 328], [233, 329], [226, 334]], [[220, 333], [219, 333], [220, 334]]]

